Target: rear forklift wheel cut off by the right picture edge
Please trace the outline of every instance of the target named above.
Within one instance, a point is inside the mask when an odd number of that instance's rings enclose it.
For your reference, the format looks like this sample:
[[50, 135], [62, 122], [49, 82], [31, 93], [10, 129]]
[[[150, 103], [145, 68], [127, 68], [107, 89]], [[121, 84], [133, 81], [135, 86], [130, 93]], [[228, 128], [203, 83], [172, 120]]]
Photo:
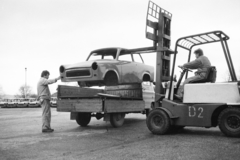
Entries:
[[226, 108], [218, 117], [222, 133], [229, 137], [240, 137], [240, 108]]

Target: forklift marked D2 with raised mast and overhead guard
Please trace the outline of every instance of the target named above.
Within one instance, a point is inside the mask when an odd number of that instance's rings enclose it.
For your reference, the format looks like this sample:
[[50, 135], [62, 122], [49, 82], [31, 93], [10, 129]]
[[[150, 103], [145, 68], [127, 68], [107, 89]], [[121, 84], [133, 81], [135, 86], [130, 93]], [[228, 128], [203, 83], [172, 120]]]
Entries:
[[[148, 19], [155, 18], [156, 22]], [[179, 38], [175, 50], [170, 48], [170, 24], [172, 14], [149, 2], [147, 27], [154, 30], [146, 37], [156, 46], [156, 86], [155, 102], [147, 116], [146, 124], [153, 134], [163, 135], [185, 126], [216, 127], [229, 137], [240, 137], [240, 81], [237, 80], [232, 58], [228, 48], [229, 36], [222, 31], [211, 31]], [[207, 78], [184, 85], [183, 99], [176, 96], [182, 78], [188, 77], [191, 70], [182, 68], [178, 82], [174, 82], [174, 69], [178, 48], [189, 52], [188, 62], [194, 47], [220, 42], [226, 58], [231, 81], [215, 83], [216, 67], [208, 68]], [[170, 75], [170, 56], [173, 62]], [[168, 83], [164, 89], [162, 84]], [[167, 90], [167, 92], [166, 92]]]

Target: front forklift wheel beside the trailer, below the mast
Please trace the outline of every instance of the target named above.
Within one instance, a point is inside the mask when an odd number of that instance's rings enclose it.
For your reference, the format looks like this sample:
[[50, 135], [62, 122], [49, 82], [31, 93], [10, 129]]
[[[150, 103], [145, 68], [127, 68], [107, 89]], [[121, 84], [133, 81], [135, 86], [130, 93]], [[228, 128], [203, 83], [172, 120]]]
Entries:
[[147, 117], [147, 127], [153, 134], [163, 135], [170, 129], [170, 118], [166, 112], [153, 109]]

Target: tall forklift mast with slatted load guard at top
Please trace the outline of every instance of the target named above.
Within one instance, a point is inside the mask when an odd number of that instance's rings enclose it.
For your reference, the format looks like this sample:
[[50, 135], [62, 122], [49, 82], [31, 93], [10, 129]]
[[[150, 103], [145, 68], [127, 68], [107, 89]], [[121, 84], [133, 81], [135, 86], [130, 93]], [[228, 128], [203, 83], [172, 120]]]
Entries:
[[[163, 96], [162, 82], [170, 81], [170, 50], [172, 14], [149, 1], [146, 18], [146, 38], [153, 41], [156, 49], [155, 107]], [[152, 33], [151, 33], [152, 31]]]

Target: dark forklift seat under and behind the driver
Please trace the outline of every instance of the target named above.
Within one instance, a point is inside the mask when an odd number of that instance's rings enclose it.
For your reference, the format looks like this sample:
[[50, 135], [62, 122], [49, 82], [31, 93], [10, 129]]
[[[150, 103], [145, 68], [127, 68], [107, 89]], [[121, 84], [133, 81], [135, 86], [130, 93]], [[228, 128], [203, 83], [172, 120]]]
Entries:
[[201, 79], [201, 80], [192, 80], [189, 83], [205, 83], [205, 82], [215, 83], [216, 76], [217, 76], [216, 67], [211, 66], [207, 69], [207, 75], [206, 75], [207, 78]]

